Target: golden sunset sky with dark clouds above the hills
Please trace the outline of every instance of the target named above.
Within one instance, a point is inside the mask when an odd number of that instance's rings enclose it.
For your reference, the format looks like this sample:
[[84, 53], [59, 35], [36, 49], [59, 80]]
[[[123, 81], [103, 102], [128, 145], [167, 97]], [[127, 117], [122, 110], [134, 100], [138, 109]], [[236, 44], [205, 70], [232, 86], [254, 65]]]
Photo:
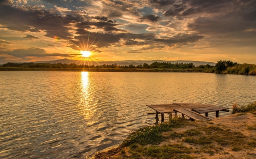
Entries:
[[255, 0], [0, 0], [0, 63], [231, 60], [256, 64]]

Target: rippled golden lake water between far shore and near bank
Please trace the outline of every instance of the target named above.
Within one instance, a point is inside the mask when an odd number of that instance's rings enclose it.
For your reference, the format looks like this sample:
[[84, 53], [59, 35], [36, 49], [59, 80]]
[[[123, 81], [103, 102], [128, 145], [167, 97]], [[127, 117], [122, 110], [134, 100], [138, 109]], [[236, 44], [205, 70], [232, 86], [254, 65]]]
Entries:
[[153, 124], [146, 105], [232, 108], [255, 101], [255, 85], [245, 75], [0, 71], [0, 158], [86, 158]]

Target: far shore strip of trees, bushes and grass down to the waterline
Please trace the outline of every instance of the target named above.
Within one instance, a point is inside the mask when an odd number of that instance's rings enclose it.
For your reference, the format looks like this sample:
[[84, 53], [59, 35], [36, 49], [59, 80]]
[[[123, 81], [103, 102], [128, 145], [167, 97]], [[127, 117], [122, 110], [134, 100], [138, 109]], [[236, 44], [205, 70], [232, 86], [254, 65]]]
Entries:
[[171, 63], [171, 62], [153, 62], [143, 65], [120, 66], [117, 63], [112, 65], [77, 65], [76, 63], [13, 63], [8, 62], [0, 65], [0, 70], [7, 71], [118, 71], [118, 72], [205, 72], [216, 74], [240, 74], [256, 75], [256, 65], [238, 64], [232, 61], [217, 61], [215, 66], [200, 65], [193, 63]]

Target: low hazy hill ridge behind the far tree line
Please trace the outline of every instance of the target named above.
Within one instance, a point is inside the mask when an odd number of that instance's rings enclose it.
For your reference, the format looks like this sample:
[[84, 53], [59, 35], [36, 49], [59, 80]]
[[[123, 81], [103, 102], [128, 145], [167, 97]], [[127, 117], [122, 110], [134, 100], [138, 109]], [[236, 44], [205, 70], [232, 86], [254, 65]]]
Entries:
[[[153, 62], [171, 62], [171, 63], [193, 63], [195, 66], [199, 66], [199, 65], [207, 65], [207, 63], [209, 63], [209, 65], [216, 65], [215, 62], [206, 62], [206, 61], [163, 61], [163, 60], [151, 60], [151, 61], [142, 61], [142, 60], [125, 60], [125, 61], [100, 61], [100, 62], [94, 62], [92, 61], [92, 63], [89, 62], [89, 65], [112, 65], [112, 64], [115, 64], [117, 63], [117, 65], [120, 65], [120, 66], [129, 66], [130, 64], [133, 64], [134, 66], [138, 66], [138, 65], [143, 65], [144, 63], [147, 63], [147, 64], [151, 64]], [[83, 63], [81, 61], [77, 61], [77, 60], [73, 60], [73, 59], [57, 59], [57, 60], [54, 60], [54, 61], [36, 61], [34, 63], [67, 63], [67, 64], [70, 64], [70, 63], [76, 63], [77, 65], [82, 65], [82, 64], [85, 64], [85, 65], [88, 65], [87, 62]]]

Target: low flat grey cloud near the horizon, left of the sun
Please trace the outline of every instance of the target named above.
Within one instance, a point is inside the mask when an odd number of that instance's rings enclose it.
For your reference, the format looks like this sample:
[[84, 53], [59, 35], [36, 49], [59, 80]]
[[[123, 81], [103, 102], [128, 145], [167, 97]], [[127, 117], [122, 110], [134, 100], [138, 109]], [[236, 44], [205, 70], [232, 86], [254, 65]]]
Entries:
[[47, 54], [46, 50], [39, 49], [39, 48], [16, 49], [13, 51], [0, 51], [0, 54], [13, 55], [14, 57], [51, 57], [51, 56], [70, 57], [69, 54], [60, 54], [60, 53]]

